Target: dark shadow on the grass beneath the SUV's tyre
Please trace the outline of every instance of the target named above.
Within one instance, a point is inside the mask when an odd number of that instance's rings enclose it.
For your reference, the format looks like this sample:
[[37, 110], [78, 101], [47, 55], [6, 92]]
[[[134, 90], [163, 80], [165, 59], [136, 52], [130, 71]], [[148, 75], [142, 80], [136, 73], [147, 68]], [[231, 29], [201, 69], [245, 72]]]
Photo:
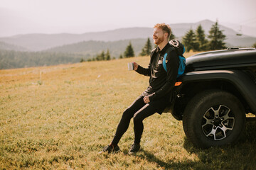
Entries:
[[247, 122], [242, 137], [235, 145], [199, 149], [185, 137], [183, 147], [196, 154], [208, 169], [255, 169], [256, 121]]

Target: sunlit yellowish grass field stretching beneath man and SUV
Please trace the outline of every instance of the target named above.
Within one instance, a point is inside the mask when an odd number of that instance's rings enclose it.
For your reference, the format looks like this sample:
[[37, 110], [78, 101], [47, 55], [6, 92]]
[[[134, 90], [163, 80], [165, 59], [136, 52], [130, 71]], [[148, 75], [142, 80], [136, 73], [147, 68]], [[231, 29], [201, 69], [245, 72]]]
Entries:
[[144, 120], [141, 152], [127, 154], [131, 121], [122, 152], [98, 154], [148, 86], [131, 61], [149, 57], [0, 70], [0, 169], [255, 169], [255, 122], [235, 146], [198, 149], [169, 113]]

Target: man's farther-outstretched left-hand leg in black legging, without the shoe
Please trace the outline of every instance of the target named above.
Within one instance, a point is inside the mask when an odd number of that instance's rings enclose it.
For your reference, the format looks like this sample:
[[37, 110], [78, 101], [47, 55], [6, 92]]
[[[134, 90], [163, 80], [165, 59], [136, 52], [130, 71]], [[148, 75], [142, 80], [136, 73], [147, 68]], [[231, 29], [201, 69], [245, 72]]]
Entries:
[[119, 140], [121, 139], [122, 135], [124, 135], [124, 132], [127, 131], [128, 127], [129, 127], [129, 123], [131, 118], [134, 116], [134, 113], [136, 113], [137, 111], [139, 111], [140, 108], [142, 108], [143, 106], [145, 106], [146, 103], [144, 103], [143, 101], [143, 96], [139, 96], [133, 103], [131, 106], [129, 106], [129, 108], [127, 108], [123, 115], [122, 118], [117, 126], [117, 131], [114, 135], [114, 139], [111, 142], [111, 145], [117, 146]]

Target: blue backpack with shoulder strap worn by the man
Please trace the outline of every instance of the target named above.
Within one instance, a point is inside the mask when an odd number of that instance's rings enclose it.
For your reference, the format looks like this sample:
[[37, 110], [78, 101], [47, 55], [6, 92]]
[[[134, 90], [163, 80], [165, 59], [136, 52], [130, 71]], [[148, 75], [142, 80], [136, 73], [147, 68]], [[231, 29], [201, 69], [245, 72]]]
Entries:
[[[179, 59], [178, 75], [177, 75], [177, 78], [178, 78], [184, 73], [186, 68], [186, 58], [183, 57], [183, 54], [185, 52], [185, 47], [178, 40], [171, 40], [169, 41], [169, 43], [172, 47], [174, 47], [174, 49], [178, 54], [178, 59]], [[167, 72], [166, 57], [167, 57], [167, 52], [164, 54], [164, 59], [163, 59], [163, 67], [164, 67], [164, 70]]]

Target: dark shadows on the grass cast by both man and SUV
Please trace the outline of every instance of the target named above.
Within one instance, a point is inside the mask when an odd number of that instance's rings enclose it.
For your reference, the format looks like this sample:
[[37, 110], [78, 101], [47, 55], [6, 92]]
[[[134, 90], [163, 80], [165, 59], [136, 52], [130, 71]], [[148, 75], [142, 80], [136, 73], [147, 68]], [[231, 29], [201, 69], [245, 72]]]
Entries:
[[[255, 169], [256, 166], [256, 121], [246, 123], [242, 139], [234, 146], [199, 149], [184, 138], [183, 147], [189, 154], [196, 154], [199, 161], [167, 161], [143, 150], [137, 157], [154, 162], [164, 169]], [[166, 153], [168, 154], [168, 153]]]

